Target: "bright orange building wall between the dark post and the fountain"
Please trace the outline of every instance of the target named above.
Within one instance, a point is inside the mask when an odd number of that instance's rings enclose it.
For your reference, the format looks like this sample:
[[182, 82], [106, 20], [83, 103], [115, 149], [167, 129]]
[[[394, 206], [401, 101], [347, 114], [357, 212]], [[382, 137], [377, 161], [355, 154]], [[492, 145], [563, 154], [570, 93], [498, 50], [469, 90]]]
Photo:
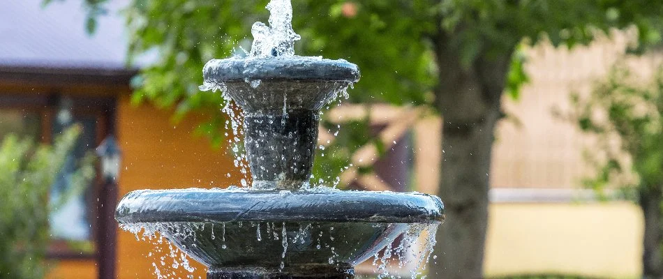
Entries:
[[[138, 189], [167, 188], [225, 188], [236, 184], [241, 174], [232, 166], [232, 158], [223, 150], [213, 150], [209, 141], [193, 135], [202, 116], [172, 121], [172, 112], [150, 105], [135, 107], [128, 96], [119, 102], [117, 113], [118, 139], [123, 153], [120, 174], [120, 195]], [[227, 174], [231, 173], [230, 178]], [[153, 241], [154, 242], [154, 241]], [[161, 249], [161, 250], [159, 250]], [[149, 253], [151, 257], [148, 257]], [[135, 235], [124, 230], [118, 233], [117, 278], [156, 278], [154, 262], [162, 273], [174, 271], [174, 278], [187, 278], [183, 268], [163, 268], [161, 257], [170, 253], [167, 246], [154, 246], [137, 241]], [[194, 278], [204, 278], [204, 268], [195, 261]], [[167, 257], [166, 266], [172, 264]]]

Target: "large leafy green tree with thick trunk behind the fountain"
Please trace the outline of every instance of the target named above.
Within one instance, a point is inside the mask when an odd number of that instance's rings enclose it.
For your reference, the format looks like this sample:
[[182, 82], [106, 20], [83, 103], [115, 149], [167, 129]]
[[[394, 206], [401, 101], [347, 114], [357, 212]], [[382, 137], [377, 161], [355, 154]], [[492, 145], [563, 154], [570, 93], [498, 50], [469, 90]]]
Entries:
[[[86, 0], [91, 6], [103, 0]], [[435, 278], [480, 278], [488, 216], [493, 130], [502, 94], [526, 82], [519, 46], [590, 43], [598, 33], [635, 27], [634, 51], [660, 41], [663, 3], [619, 0], [298, 0], [297, 52], [343, 58], [362, 69], [352, 102], [425, 105], [442, 114], [439, 194], [447, 223], [438, 232]], [[135, 80], [135, 101], [177, 106], [177, 114], [223, 107], [200, 93], [206, 61], [248, 48], [267, 0], [134, 0], [126, 10], [130, 57], [158, 50]], [[202, 133], [221, 141], [214, 114]], [[356, 129], [359, 130], [359, 129]]]

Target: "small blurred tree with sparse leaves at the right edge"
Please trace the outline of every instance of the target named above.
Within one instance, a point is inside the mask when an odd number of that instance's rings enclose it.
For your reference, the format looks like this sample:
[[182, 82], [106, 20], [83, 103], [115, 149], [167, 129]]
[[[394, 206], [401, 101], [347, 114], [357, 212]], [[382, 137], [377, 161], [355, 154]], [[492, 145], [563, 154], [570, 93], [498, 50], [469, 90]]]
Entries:
[[[595, 175], [585, 184], [599, 191], [620, 187], [645, 220], [643, 278], [663, 278], [663, 67], [648, 84], [618, 63], [589, 96], [574, 95], [572, 119], [593, 135]], [[597, 152], [598, 151], [598, 152]]]

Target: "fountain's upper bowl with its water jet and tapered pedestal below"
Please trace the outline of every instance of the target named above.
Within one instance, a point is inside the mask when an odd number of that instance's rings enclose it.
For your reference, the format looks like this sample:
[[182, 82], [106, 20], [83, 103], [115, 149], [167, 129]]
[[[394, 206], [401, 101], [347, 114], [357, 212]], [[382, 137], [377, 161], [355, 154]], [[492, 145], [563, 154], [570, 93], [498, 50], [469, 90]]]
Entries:
[[244, 110], [245, 146], [253, 188], [298, 190], [308, 185], [320, 109], [359, 80], [345, 60], [295, 56], [292, 6], [272, 0], [269, 27], [253, 24], [246, 58], [213, 59], [202, 89], [221, 89]]

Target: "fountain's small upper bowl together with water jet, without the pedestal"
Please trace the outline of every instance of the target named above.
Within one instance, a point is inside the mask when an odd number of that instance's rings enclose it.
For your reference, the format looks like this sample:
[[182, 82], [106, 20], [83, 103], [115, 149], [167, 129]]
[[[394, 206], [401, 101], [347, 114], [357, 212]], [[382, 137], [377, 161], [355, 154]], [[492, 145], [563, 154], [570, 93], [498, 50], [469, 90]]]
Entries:
[[249, 114], [320, 110], [338, 91], [359, 80], [357, 65], [345, 60], [295, 56], [290, 0], [267, 4], [269, 26], [255, 22], [246, 58], [212, 59], [203, 68], [207, 89], [221, 89]]

